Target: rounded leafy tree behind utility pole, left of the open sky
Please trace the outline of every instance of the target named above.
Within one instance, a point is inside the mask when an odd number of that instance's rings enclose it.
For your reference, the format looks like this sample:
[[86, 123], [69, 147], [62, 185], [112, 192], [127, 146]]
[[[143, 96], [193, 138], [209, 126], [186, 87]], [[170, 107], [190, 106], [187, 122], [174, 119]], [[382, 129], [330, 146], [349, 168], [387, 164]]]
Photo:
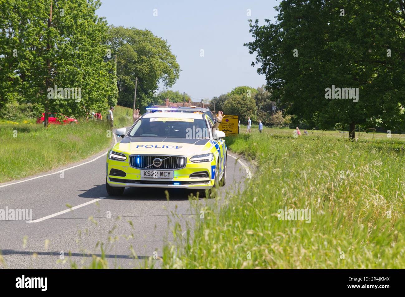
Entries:
[[171, 87], [179, 78], [180, 67], [170, 45], [149, 30], [111, 26], [107, 45], [111, 55], [117, 55], [120, 105], [133, 106], [136, 77], [136, 108], [141, 109], [155, 103], [153, 93], [160, 82]]

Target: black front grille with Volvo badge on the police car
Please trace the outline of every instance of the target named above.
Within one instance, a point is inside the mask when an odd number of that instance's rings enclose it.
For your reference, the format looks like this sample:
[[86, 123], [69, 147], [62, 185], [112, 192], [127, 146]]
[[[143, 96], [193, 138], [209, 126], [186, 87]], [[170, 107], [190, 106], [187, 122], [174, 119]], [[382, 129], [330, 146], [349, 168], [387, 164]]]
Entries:
[[[139, 158], [139, 162], [138, 162]], [[155, 158], [162, 159], [162, 165], [153, 165]], [[137, 169], [181, 169], [185, 167], [187, 159], [182, 156], [162, 156], [162, 155], [132, 155], [130, 165]]]

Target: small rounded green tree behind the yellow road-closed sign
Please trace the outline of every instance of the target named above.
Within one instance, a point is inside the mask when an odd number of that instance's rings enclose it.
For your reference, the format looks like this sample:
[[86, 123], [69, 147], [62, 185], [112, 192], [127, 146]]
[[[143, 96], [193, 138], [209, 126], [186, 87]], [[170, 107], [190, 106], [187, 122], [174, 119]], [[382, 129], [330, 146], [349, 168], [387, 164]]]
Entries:
[[224, 103], [224, 114], [239, 116], [241, 122], [247, 122], [250, 117], [252, 122], [256, 121], [256, 102], [253, 97], [245, 95], [230, 95]]

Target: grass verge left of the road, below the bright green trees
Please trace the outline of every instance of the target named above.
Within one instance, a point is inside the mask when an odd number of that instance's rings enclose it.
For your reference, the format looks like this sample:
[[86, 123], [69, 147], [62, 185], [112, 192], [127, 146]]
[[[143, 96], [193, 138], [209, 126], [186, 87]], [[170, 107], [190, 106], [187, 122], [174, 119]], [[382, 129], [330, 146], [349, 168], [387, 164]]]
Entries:
[[0, 124], [0, 182], [44, 173], [109, 147], [107, 122]]

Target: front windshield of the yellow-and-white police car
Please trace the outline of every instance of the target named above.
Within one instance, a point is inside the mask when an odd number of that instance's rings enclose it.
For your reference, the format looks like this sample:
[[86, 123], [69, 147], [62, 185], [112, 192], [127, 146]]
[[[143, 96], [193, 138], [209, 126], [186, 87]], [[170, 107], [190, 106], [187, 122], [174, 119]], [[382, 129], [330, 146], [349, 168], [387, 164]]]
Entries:
[[129, 133], [134, 137], [176, 137], [189, 139], [209, 138], [203, 119], [141, 118]]

